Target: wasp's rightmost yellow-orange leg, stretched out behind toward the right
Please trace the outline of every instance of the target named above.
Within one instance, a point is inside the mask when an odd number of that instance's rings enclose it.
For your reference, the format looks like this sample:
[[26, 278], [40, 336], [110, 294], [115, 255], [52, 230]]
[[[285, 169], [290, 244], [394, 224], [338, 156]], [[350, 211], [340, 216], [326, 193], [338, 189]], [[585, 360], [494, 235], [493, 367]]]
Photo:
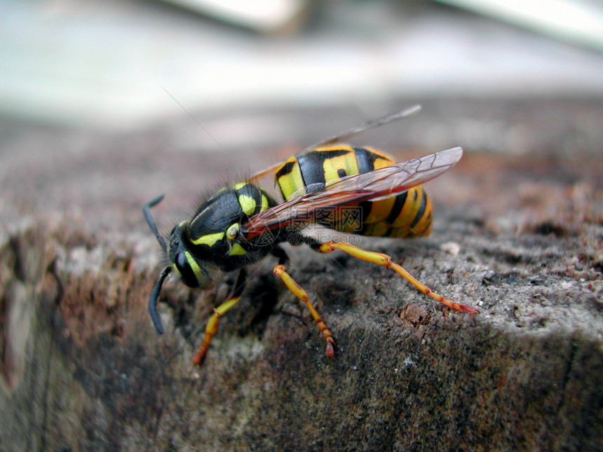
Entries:
[[414, 285], [414, 287], [419, 289], [420, 292], [431, 296], [431, 298], [440, 301], [440, 303], [444, 303], [449, 308], [470, 314], [477, 314], [480, 312], [475, 308], [471, 308], [470, 306], [465, 306], [459, 303], [454, 303], [454, 301], [450, 301], [449, 299], [445, 299], [440, 294], [436, 294], [431, 289], [429, 289], [429, 287], [414, 278], [404, 268], [399, 266], [397, 263], [393, 263], [391, 261], [391, 257], [387, 254], [366, 251], [365, 249], [360, 249], [358, 247], [355, 247], [354, 245], [350, 245], [349, 243], [333, 242], [332, 240], [323, 243], [318, 249], [320, 249], [320, 251], [323, 253], [330, 253], [334, 249], [339, 249], [340, 251], [346, 252], [351, 256], [357, 257], [358, 259], [363, 259], [363, 261], [377, 263], [377, 265], [384, 266], [386, 268], [393, 268], [393, 270], [395, 270], [398, 275], [402, 276], [402, 278], [405, 278], [405, 280], [407, 280], [412, 285]]

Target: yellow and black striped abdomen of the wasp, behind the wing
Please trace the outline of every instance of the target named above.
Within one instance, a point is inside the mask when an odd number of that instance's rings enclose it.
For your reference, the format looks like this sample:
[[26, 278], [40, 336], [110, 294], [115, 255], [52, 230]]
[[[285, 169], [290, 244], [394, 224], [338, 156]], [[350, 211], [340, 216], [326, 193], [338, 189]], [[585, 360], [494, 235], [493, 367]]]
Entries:
[[[310, 184], [326, 183], [393, 165], [387, 154], [344, 144], [324, 146], [291, 157], [276, 172], [283, 197]], [[334, 207], [318, 224], [336, 231], [377, 237], [416, 237], [431, 232], [431, 200], [422, 186], [379, 201]]]

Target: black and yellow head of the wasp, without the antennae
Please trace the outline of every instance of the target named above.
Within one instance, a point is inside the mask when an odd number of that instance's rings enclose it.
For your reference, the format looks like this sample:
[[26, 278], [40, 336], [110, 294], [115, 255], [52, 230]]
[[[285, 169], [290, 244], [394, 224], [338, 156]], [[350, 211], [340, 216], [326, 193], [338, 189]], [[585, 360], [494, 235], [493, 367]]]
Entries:
[[189, 246], [187, 222], [178, 224], [170, 233], [168, 257], [172, 268], [176, 270], [182, 282], [189, 287], [205, 289], [212, 283], [212, 276], [217, 273], [215, 264], [198, 259]]

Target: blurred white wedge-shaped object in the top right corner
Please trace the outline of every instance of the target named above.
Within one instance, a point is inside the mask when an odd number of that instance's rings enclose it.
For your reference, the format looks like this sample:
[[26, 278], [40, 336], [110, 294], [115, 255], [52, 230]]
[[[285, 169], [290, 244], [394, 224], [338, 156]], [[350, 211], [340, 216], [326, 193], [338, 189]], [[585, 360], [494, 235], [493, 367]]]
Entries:
[[603, 5], [580, 0], [438, 0], [579, 46], [603, 50]]

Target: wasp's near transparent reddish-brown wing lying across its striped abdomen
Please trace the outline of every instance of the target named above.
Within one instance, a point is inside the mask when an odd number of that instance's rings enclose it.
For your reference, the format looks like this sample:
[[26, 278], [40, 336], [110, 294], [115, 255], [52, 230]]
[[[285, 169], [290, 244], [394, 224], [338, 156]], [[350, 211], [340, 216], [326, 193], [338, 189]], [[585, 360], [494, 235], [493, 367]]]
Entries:
[[455, 147], [380, 170], [342, 177], [331, 183], [313, 184], [306, 187], [310, 193], [294, 193], [285, 203], [250, 218], [243, 227], [243, 236], [250, 239], [270, 229], [313, 221], [327, 207], [353, 205], [398, 195], [438, 177], [454, 166], [461, 156], [463, 149]]

